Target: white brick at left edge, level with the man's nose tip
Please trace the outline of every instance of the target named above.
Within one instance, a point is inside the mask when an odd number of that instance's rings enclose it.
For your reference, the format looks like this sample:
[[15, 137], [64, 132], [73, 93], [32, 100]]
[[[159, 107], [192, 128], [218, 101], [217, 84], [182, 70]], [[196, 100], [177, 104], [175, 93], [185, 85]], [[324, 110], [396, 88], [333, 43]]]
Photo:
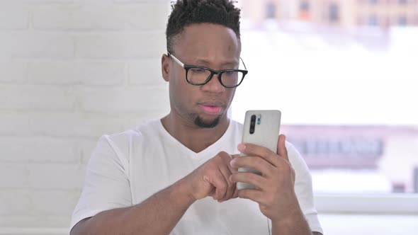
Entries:
[[0, 86], [0, 109], [73, 110], [75, 96], [69, 88], [54, 86]]

